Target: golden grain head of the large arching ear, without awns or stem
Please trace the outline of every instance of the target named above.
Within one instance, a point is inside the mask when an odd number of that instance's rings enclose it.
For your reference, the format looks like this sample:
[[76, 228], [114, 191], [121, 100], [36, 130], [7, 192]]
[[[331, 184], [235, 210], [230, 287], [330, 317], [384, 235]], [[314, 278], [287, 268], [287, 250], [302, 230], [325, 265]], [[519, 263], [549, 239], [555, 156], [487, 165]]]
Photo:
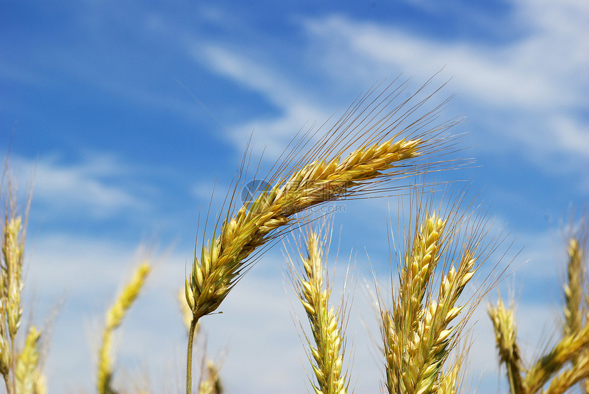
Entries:
[[195, 256], [190, 280], [186, 280], [186, 299], [196, 319], [214, 312], [244, 269], [244, 262], [268, 234], [287, 227], [292, 215], [344, 197], [347, 190], [364, 180], [383, 177], [393, 162], [418, 155], [418, 140], [387, 141], [358, 149], [340, 162], [313, 162], [288, 180], [278, 182], [268, 193], [238, 210], [223, 223], [221, 234]]

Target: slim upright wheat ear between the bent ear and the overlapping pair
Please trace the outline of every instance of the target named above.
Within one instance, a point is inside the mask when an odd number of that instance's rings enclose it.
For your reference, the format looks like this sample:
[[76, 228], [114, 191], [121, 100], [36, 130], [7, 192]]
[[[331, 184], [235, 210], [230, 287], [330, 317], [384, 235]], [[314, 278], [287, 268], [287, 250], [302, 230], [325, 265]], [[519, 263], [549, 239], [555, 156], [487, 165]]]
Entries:
[[342, 373], [344, 358], [343, 305], [330, 306], [331, 285], [327, 278], [327, 234], [320, 230], [308, 230], [306, 256], [301, 253], [303, 267], [297, 274], [290, 260], [294, 286], [311, 325], [312, 339], [305, 336], [312, 356], [316, 377], [313, 386], [316, 394], [345, 394], [349, 382]]

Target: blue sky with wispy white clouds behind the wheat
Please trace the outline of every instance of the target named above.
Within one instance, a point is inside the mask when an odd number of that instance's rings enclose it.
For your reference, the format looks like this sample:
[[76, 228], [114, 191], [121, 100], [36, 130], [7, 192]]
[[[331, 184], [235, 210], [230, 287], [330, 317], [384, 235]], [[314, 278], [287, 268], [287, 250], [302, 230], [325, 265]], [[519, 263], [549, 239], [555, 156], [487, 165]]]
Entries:
[[[466, 116], [453, 131], [466, 134], [460, 155], [476, 159], [440, 176], [470, 182], [523, 248], [501, 288], [516, 293], [533, 350], [560, 301], [561, 220], [589, 196], [588, 20], [574, 0], [2, 1], [0, 151], [14, 132], [21, 190], [34, 182], [25, 292], [38, 322], [63, 299], [52, 391], [92, 388], [100, 319], [140, 243], [161, 258], [124, 323], [118, 365], [181, 387], [175, 291], [199, 212], [213, 186], [225, 195], [249, 136], [268, 169], [301, 127], [341, 114], [375, 82], [402, 74], [416, 89], [440, 70], [432, 85], [449, 83], [438, 100], [455, 95], [444, 116]], [[389, 207], [397, 201], [353, 201], [334, 219], [360, 278], [366, 254], [386, 276]], [[305, 389], [284, 267], [276, 245], [204, 322], [210, 353], [227, 350], [229, 392]], [[480, 392], [505, 391], [482, 313], [473, 379]], [[374, 391], [370, 338], [351, 327], [357, 392]]]

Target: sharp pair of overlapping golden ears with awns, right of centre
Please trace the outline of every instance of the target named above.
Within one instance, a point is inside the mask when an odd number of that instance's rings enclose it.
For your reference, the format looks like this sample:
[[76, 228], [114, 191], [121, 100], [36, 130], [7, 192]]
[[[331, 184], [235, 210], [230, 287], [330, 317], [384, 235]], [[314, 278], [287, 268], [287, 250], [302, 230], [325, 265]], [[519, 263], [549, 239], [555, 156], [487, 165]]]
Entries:
[[454, 377], [460, 367], [446, 367], [444, 374], [444, 366], [488, 287], [473, 289], [467, 301], [463, 296], [477, 269], [503, 241], [501, 234], [489, 236], [492, 223], [479, 212], [464, 211], [462, 195], [437, 210], [433, 197], [414, 197], [411, 230], [401, 247], [399, 289], [391, 283], [390, 308], [377, 286], [384, 386], [390, 394], [458, 390]]

